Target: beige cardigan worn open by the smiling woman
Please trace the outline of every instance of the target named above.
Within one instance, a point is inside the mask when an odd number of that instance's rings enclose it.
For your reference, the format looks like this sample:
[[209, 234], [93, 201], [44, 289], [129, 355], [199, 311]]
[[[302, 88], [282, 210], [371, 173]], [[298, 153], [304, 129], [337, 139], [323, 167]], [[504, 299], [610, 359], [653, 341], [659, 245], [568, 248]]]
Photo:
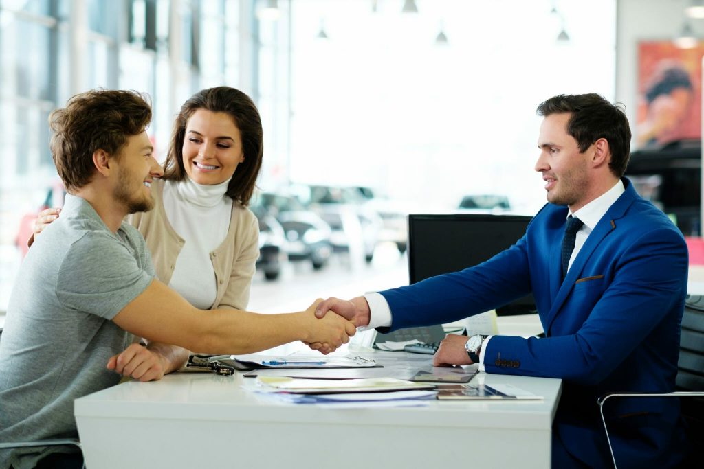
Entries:
[[[154, 179], [151, 184], [151, 194], [154, 198], [153, 210], [132, 214], [127, 221], [144, 236], [146, 245], [151, 251], [156, 276], [168, 285], [184, 240], [176, 233], [166, 217], [163, 203], [164, 183], [163, 179]], [[203, 226], [203, 229], [208, 227]], [[210, 252], [215, 281], [218, 282], [213, 309], [246, 309], [258, 257], [258, 221], [249, 209], [234, 202], [227, 238], [216, 250]]]

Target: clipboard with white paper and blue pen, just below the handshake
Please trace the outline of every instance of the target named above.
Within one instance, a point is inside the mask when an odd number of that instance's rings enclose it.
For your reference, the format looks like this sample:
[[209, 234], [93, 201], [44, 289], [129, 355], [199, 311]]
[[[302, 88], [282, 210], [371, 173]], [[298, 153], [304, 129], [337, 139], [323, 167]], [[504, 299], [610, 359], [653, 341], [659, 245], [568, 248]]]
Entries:
[[222, 363], [234, 366], [238, 370], [282, 369], [282, 368], [382, 368], [374, 360], [361, 356], [269, 356], [246, 355], [232, 356], [229, 360], [220, 360]]

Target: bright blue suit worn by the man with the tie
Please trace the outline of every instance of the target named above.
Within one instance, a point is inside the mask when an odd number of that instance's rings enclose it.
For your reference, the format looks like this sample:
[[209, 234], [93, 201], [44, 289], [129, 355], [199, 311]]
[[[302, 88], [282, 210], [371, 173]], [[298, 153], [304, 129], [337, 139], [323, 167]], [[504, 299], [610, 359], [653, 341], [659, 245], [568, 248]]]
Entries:
[[[391, 308], [391, 330], [457, 321], [533, 293], [546, 338], [495, 336], [486, 372], [562, 378], [553, 444], [562, 442], [591, 467], [610, 465], [599, 396], [674, 390], [686, 296], [683, 236], [623, 181], [626, 191], [589, 234], [564, 282], [567, 207], [548, 203], [515, 245], [488, 261], [380, 292]], [[609, 429], [620, 468], [667, 467], [679, 459], [676, 399], [612, 401]], [[553, 460], [553, 467], [569, 465]]]

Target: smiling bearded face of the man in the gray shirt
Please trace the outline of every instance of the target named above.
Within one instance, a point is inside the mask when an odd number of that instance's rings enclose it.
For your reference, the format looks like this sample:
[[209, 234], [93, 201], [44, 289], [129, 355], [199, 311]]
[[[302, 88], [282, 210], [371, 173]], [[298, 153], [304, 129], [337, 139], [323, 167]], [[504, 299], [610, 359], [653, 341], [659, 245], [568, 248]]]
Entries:
[[127, 137], [127, 145], [116, 159], [118, 181], [113, 197], [127, 207], [127, 213], [148, 212], [154, 206], [151, 182], [163, 174], [161, 166], [153, 158], [154, 148], [146, 131]]

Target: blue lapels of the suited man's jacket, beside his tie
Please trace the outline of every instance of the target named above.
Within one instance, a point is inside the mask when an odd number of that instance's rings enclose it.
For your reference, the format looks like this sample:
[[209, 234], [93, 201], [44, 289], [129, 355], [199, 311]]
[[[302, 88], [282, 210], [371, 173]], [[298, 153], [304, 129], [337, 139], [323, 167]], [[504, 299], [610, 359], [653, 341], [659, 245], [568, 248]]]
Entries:
[[[555, 321], [555, 317], [558, 316], [558, 312], [562, 309], [562, 305], [565, 303], [565, 300], [567, 300], [567, 296], [570, 295], [572, 288], [574, 288], [574, 283], [582, 276], [584, 266], [589, 262], [594, 250], [596, 250], [606, 236], [617, 229], [616, 220], [622, 218], [626, 210], [628, 210], [628, 207], [639, 197], [630, 184], [630, 181], [625, 178], [623, 180], [626, 191], [609, 207], [609, 210], [606, 211], [598, 224], [596, 224], [591, 233], [589, 233], [589, 238], [586, 238], [586, 243], [584, 243], [582, 249], [579, 250], [577, 257], [574, 258], [572, 267], [567, 271], [565, 281], [562, 283], [560, 283], [560, 278], [562, 277], [562, 262], [560, 259], [561, 245], [556, 243], [558, 244], [556, 248], [551, 250], [551, 293], [556, 290], [557, 295], [553, 296], [555, 299], [553, 300], [552, 307], [546, 321], [543, 321], [546, 331], [549, 332], [553, 321]], [[560, 238], [560, 240], [562, 240], [562, 238]], [[555, 284], [558, 286], [556, 289]]]

